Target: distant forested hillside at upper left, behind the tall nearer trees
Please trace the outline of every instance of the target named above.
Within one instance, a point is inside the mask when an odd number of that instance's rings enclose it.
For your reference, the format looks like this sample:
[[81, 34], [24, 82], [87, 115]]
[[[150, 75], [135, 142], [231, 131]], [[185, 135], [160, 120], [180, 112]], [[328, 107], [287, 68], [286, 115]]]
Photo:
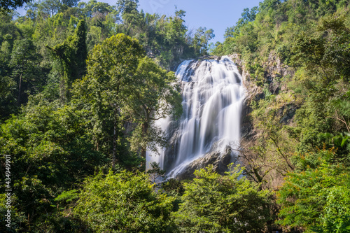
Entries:
[[118, 1], [116, 6], [94, 0], [33, 1], [27, 14], [1, 13], [0, 118], [18, 113], [30, 94], [61, 101], [71, 98], [76, 79], [86, 73], [87, 53], [94, 45], [116, 34], [136, 38], [146, 55], [169, 68], [180, 58], [205, 55], [213, 30], [198, 29], [191, 37], [183, 17], [148, 14], [137, 9], [138, 1]]

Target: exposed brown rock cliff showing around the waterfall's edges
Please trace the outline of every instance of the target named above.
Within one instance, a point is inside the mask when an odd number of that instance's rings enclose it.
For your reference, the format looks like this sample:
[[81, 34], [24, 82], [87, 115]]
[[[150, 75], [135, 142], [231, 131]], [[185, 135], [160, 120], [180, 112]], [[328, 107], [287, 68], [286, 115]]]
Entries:
[[[242, 77], [243, 85], [246, 89], [244, 103], [241, 108], [241, 138], [246, 141], [253, 141], [255, 140], [255, 132], [250, 115], [252, 111], [251, 103], [252, 101], [259, 101], [260, 99], [265, 98], [264, 87], [255, 84], [255, 78], [251, 77], [251, 73], [249, 73], [248, 69], [246, 69], [246, 64], [241, 59], [240, 55], [233, 54], [229, 57], [237, 65], [239, 73]], [[202, 59], [220, 60], [221, 57], [205, 56], [200, 57], [198, 60]], [[281, 84], [280, 80], [284, 76], [293, 76], [293, 69], [290, 69], [290, 67], [283, 65], [274, 51], [270, 53], [267, 62], [265, 62], [262, 67], [265, 70], [264, 78], [266, 80], [265, 83], [268, 84], [267, 88], [269, 92], [271, 94], [279, 94], [279, 92], [285, 91], [286, 87]], [[296, 106], [281, 106], [278, 113], [280, 115], [281, 122], [284, 125], [288, 125], [290, 120], [293, 118], [296, 108]], [[172, 125], [172, 128], [175, 130], [176, 125]], [[169, 139], [171, 146], [166, 151], [167, 158], [165, 160], [165, 164], [171, 164], [175, 159], [175, 151], [177, 146], [174, 140], [175, 138], [176, 132], [174, 132], [172, 134], [172, 138]], [[218, 174], [224, 174], [225, 171], [228, 170], [228, 164], [232, 162], [237, 162], [237, 152], [232, 151], [232, 148], [230, 146], [225, 148], [225, 151], [223, 153], [218, 153], [214, 150], [214, 152], [207, 153], [203, 157], [191, 162], [184, 171], [178, 174], [177, 178], [193, 178], [193, 172], [196, 169], [202, 169], [204, 167], [207, 167], [209, 164], [214, 164], [214, 169], [218, 172]], [[165, 167], [165, 169], [167, 169], [167, 167]]]

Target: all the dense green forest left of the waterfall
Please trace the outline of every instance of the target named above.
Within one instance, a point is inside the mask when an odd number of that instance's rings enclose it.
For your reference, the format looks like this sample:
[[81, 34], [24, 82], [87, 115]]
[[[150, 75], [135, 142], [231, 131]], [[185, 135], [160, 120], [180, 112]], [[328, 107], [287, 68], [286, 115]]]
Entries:
[[[94, 225], [95, 216], [85, 219], [84, 206], [91, 195], [85, 188], [103, 180], [108, 185], [111, 179], [117, 185], [112, 189], [123, 191], [125, 206], [120, 211], [137, 208], [140, 214], [120, 216], [119, 232], [174, 227], [173, 197], [155, 192], [148, 176], [134, 169], [144, 171], [146, 148], [167, 144], [153, 121], [177, 118], [182, 111], [176, 78], [167, 69], [180, 58], [206, 54], [214, 34], [208, 30], [209, 36], [201, 32], [192, 38], [183, 10], [167, 17], [137, 6], [134, 0], [120, 0], [116, 6], [45, 0], [27, 3], [25, 16], [0, 13], [1, 190], [10, 177], [10, 231], [111, 230], [109, 222]], [[6, 155], [11, 157], [10, 175]], [[104, 176], [109, 169], [113, 171]], [[97, 171], [98, 176], [85, 180]], [[127, 203], [127, 187], [139, 193], [133, 207]], [[1, 191], [1, 219], [5, 200]], [[149, 208], [140, 212], [144, 206]], [[109, 207], [116, 213], [114, 204]], [[94, 213], [105, 216], [107, 209], [101, 211]], [[5, 230], [9, 228], [1, 225], [0, 231]]]

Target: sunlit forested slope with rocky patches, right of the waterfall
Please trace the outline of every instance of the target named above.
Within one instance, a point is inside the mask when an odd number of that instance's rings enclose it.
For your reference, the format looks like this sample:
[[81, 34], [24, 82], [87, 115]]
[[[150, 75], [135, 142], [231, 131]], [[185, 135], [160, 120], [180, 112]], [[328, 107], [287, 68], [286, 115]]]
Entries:
[[265, 0], [213, 50], [238, 53], [261, 93], [241, 159], [290, 230], [350, 232], [349, 15], [349, 1]]

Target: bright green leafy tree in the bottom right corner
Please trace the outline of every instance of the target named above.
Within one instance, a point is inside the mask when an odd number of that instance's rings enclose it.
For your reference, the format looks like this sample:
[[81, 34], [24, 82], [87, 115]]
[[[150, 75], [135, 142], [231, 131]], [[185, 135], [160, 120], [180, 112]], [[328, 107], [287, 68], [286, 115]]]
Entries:
[[299, 171], [286, 176], [278, 192], [281, 225], [314, 232], [349, 232], [350, 172], [344, 164], [330, 164], [332, 150], [319, 150], [297, 158]]

